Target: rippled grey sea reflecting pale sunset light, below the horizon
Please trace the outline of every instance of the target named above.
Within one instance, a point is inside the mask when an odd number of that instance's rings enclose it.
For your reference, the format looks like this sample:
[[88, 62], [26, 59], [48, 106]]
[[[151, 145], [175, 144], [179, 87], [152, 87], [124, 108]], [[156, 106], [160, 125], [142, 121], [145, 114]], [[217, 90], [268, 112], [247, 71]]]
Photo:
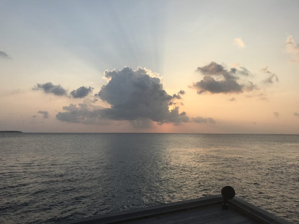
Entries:
[[0, 133], [0, 223], [220, 194], [299, 223], [299, 135]]

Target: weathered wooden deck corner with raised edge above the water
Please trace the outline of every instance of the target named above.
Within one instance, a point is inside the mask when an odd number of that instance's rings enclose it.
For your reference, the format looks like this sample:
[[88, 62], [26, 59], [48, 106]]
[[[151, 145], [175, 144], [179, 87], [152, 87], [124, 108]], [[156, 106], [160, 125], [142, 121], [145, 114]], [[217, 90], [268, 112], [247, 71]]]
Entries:
[[215, 195], [149, 208], [70, 220], [60, 224], [291, 224], [238, 197], [228, 200], [228, 210], [222, 209], [222, 202], [222, 196]]

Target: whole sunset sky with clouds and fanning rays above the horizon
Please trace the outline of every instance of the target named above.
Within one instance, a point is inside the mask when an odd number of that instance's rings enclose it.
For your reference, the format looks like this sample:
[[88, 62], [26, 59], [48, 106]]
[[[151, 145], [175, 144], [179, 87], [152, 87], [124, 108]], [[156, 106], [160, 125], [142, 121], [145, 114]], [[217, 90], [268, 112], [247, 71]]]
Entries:
[[2, 131], [299, 134], [299, 1], [0, 5]]

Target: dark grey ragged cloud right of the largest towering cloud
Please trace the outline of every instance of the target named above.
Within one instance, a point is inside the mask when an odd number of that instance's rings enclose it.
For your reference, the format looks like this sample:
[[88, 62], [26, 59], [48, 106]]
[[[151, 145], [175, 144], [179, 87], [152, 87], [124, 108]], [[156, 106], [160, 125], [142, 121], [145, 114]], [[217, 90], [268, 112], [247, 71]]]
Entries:
[[[249, 81], [248, 84], [238, 83], [238, 75], [248, 76], [250, 74], [246, 68], [240, 68], [241, 70], [231, 68], [231, 70], [228, 71], [222, 65], [216, 62], [210, 62], [210, 64], [206, 66], [197, 68], [196, 71], [202, 73], [204, 77], [201, 81], [194, 83], [191, 88], [195, 88], [198, 94], [205, 92], [242, 93], [244, 90], [251, 91], [257, 88], [256, 85]], [[214, 76], [216, 79], [211, 76]]]

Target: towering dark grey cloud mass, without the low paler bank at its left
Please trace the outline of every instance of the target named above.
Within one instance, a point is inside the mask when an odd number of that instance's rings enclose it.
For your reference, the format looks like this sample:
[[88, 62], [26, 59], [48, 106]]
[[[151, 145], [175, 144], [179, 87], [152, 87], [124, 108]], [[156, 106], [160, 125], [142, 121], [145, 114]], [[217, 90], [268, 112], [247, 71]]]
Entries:
[[95, 95], [111, 105], [111, 108], [100, 111], [103, 118], [148, 118], [159, 124], [188, 122], [186, 115], [179, 114], [179, 107], [169, 110], [172, 100], [180, 99], [183, 91], [173, 96], [167, 94], [160, 79], [151, 77], [148, 70], [141, 67], [137, 70], [125, 67], [120, 71], [106, 70], [104, 76], [109, 82]]

